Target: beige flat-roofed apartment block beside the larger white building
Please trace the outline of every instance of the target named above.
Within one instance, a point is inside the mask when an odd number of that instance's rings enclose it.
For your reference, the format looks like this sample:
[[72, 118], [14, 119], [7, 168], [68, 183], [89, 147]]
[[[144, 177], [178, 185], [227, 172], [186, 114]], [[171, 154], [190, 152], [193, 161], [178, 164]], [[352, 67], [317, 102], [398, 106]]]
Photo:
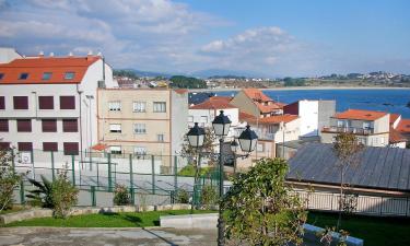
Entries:
[[173, 155], [188, 131], [186, 90], [98, 90], [98, 140], [114, 154]]

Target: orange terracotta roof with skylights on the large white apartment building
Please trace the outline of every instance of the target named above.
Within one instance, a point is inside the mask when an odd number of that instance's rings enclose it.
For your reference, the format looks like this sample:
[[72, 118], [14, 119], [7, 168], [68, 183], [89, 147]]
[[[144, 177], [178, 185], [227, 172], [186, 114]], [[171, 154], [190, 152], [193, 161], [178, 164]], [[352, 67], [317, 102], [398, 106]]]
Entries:
[[[0, 73], [3, 73], [0, 84], [81, 83], [87, 68], [99, 59], [99, 56], [14, 59], [9, 63], [0, 65]], [[48, 80], [43, 80], [45, 72], [51, 73]], [[74, 72], [74, 77], [65, 79], [66, 72]], [[22, 73], [28, 73], [27, 79], [21, 80]]]

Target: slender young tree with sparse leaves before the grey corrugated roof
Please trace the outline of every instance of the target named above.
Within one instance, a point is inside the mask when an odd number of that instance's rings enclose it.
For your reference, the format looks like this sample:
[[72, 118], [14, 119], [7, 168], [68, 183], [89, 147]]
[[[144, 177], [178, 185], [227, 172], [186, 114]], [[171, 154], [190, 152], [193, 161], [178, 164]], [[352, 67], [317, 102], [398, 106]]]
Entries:
[[[333, 152], [338, 157], [337, 167], [340, 171], [340, 199], [339, 199], [339, 219], [336, 225], [338, 231], [341, 225], [341, 218], [344, 208], [347, 208], [347, 200], [343, 197], [344, 188], [348, 184], [344, 183], [344, 175], [349, 167], [355, 167], [360, 163], [360, 153], [363, 150], [363, 144], [359, 142], [353, 133], [340, 133], [336, 136], [333, 143]], [[347, 198], [349, 199], [349, 198]]]

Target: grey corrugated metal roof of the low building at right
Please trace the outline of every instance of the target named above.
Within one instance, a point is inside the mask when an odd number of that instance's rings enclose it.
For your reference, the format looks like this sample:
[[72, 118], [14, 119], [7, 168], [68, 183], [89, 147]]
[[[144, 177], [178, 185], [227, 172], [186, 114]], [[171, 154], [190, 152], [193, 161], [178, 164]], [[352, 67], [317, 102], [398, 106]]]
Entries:
[[[410, 191], [410, 150], [366, 147], [358, 164], [348, 167], [345, 183], [361, 188]], [[340, 184], [332, 144], [309, 143], [289, 160], [289, 180]]]

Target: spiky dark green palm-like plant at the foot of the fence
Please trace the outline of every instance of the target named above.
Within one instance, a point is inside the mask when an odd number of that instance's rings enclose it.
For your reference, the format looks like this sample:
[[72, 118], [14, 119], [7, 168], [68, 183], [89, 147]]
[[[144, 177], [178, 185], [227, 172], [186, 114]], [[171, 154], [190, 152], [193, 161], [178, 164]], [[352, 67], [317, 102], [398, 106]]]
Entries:
[[28, 194], [25, 196], [30, 199], [28, 203], [32, 206], [52, 209], [52, 184], [44, 175], [42, 175], [40, 178], [43, 183], [33, 178], [27, 178], [36, 189], [28, 190]]

